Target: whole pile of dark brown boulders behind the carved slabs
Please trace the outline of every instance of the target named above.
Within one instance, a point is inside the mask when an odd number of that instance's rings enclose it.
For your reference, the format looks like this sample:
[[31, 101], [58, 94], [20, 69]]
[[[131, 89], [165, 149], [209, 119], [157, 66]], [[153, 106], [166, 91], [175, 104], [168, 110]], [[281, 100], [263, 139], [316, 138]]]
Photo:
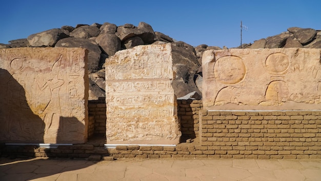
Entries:
[[[138, 26], [132, 24], [116, 26], [111, 23], [63, 26], [29, 35], [27, 39], [0, 44], [0, 48], [83, 47], [88, 49], [89, 99], [93, 100], [105, 97], [106, 58], [113, 56], [119, 50], [130, 49], [137, 45], [163, 43], [172, 44], [173, 69], [176, 73], [173, 87], [176, 97], [184, 97], [192, 92], [202, 95], [200, 86], [202, 85], [203, 52], [222, 48], [204, 44], [193, 47], [185, 42], [175, 42], [168, 35], [155, 32], [149, 24], [144, 22], [139, 23]], [[292, 27], [273, 37], [254, 41], [253, 44], [243, 44], [242, 48], [321, 48], [321, 31]]]

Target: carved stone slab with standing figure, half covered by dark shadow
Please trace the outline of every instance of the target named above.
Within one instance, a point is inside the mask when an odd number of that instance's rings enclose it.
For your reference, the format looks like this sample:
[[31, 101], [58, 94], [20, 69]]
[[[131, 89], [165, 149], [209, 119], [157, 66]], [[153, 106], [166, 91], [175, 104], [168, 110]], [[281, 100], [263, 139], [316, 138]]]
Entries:
[[87, 50], [0, 49], [0, 141], [85, 143]]

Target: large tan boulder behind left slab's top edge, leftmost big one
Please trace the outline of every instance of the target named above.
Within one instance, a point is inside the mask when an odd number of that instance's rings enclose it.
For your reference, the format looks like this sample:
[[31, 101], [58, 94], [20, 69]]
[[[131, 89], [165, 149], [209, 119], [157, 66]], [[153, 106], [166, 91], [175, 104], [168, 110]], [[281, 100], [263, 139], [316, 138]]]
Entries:
[[[68, 33], [67, 33], [68, 34]], [[54, 45], [60, 40], [69, 37], [66, 34], [66, 30], [62, 29], [50, 29], [40, 33], [31, 34], [27, 40], [33, 47], [42, 47], [42, 46], [51, 46]]]

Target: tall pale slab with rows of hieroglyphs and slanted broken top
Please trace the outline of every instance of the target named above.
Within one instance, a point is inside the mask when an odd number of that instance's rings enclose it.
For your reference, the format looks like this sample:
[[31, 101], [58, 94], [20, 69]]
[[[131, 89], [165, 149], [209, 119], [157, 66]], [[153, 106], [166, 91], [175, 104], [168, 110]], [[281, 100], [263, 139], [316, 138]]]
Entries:
[[179, 143], [171, 50], [136, 46], [106, 60], [107, 143]]

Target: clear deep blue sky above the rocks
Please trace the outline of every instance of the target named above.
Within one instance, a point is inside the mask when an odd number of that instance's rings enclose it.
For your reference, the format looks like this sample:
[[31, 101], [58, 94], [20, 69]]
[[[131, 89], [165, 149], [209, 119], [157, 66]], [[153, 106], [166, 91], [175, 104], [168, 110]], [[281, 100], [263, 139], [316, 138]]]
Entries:
[[267, 38], [289, 27], [321, 30], [320, 0], [4, 0], [0, 4], [0, 43], [64, 25], [105, 22], [138, 26], [192, 46], [240, 45], [240, 21], [248, 27], [242, 43]]

